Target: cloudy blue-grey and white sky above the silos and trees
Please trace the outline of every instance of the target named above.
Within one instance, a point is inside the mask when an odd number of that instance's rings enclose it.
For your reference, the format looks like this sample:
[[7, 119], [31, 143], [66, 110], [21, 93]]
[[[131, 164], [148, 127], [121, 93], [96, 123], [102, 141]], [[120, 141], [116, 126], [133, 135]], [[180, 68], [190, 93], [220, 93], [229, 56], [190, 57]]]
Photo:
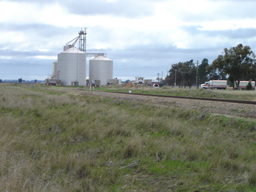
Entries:
[[0, 7], [3, 80], [48, 78], [57, 54], [85, 28], [86, 52], [105, 53], [123, 81], [165, 78], [172, 64], [191, 59], [211, 64], [238, 44], [256, 53], [255, 0], [0, 0]]

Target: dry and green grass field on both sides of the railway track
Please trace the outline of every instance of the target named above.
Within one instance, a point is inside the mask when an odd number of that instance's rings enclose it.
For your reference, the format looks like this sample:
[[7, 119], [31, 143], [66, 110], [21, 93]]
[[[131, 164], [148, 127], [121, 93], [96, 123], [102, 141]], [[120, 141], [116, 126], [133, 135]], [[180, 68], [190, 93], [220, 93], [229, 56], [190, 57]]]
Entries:
[[0, 191], [256, 191], [255, 121], [63, 89], [0, 84]]

